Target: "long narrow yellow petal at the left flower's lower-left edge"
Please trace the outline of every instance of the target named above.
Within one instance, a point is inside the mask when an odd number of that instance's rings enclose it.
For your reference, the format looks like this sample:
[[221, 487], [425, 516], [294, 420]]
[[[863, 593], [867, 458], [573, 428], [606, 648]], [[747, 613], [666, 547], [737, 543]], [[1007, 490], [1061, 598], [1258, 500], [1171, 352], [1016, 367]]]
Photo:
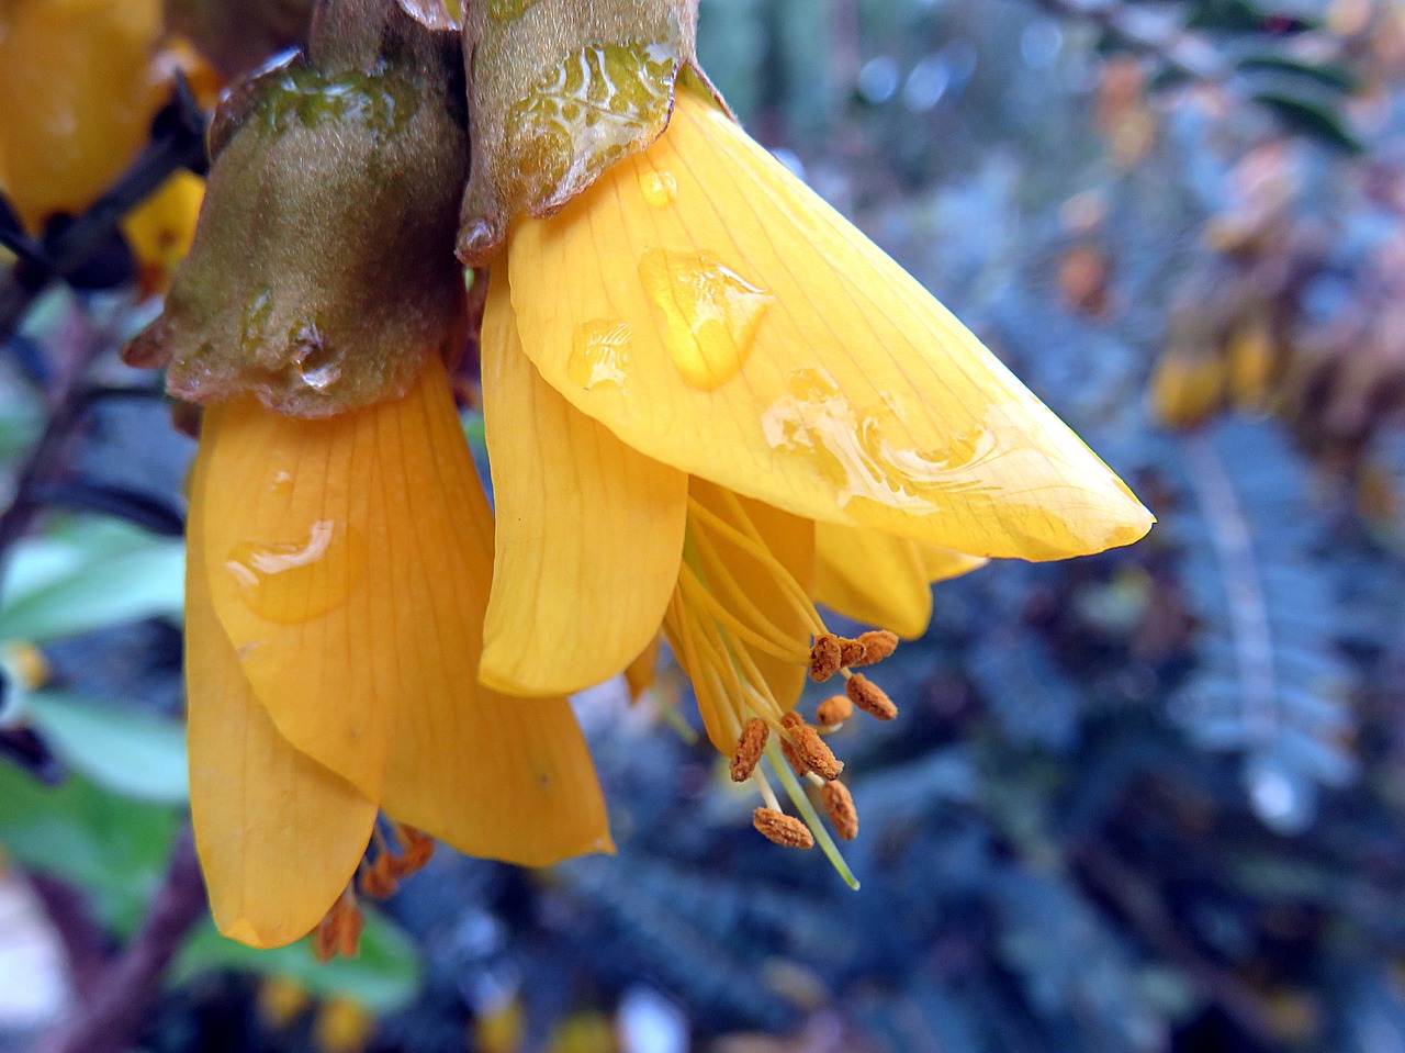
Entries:
[[185, 578], [190, 806], [209, 907], [257, 948], [311, 931], [351, 880], [375, 803], [278, 734], [211, 609], [201, 541], [202, 464], [191, 479]]

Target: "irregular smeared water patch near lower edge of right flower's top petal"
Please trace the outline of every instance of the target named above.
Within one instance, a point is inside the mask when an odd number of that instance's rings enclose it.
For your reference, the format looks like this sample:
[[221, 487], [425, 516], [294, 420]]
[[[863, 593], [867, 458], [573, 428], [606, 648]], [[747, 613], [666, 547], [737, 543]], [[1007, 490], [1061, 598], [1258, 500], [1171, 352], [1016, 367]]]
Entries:
[[932, 453], [891, 441], [891, 432], [903, 433], [901, 425], [895, 406], [858, 411], [821, 367], [792, 373], [790, 392], [762, 415], [771, 448], [811, 460], [839, 488], [842, 508], [864, 499], [927, 513], [943, 496], [1000, 489], [989, 471], [996, 461], [991, 432], [953, 434], [947, 448]]

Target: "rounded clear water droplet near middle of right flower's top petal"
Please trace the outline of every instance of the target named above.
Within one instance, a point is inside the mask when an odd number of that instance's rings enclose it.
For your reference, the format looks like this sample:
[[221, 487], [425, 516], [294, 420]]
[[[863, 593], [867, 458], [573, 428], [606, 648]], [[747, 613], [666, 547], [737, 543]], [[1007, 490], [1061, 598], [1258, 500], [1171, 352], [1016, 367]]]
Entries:
[[704, 253], [649, 249], [645, 292], [663, 312], [663, 342], [684, 382], [714, 391], [740, 373], [776, 297]]

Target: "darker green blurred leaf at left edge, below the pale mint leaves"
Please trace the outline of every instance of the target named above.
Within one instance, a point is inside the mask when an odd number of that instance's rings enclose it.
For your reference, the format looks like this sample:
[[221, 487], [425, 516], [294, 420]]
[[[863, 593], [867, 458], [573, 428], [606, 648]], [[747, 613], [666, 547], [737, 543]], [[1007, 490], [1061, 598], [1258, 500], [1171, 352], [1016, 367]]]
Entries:
[[183, 814], [117, 797], [79, 775], [41, 786], [0, 763], [0, 845], [22, 866], [86, 891], [118, 934], [142, 919]]

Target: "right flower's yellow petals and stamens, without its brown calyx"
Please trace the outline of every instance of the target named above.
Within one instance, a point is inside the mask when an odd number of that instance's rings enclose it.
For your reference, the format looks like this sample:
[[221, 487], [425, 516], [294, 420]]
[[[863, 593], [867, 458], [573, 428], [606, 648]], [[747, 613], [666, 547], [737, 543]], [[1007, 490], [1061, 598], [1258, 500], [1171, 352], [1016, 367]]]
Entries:
[[[787, 716], [826, 638], [816, 599], [916, 635], [927, 583], [979, 557], [1096, 553], [1152, 523], [687, 75], [660, 139], [511, 232], [483, 396], [497, 508], [483, 683], [575, 690], [628, 666], [662, 624], [718, 749], [759, 720], [753, 745], [774, 761], [784, 744], [816, 782], [830, 776], [806, 751], [832, 758]], [[844, 676], [849, 697], [891, 716]], [[832, 813], [840, 794], [826, 793]], [[757, 815], [804, 844], [787, 824]]]

